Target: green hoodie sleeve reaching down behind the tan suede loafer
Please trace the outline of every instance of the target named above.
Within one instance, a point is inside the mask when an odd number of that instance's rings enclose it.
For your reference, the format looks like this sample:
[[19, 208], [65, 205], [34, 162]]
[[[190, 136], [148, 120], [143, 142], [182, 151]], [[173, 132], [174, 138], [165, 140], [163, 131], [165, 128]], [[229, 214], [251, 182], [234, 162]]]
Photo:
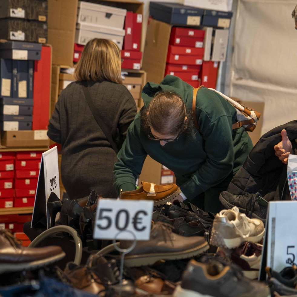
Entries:
[[127, 130], [127, 137], [122, 148], [117, 154], [117, 163], [114, 164], [114, 187], [118, 194], [135, 190], [135, 182], [140, 175], [144, 160], [147, 156], [139, 134], [137, 133], [135, 120]]

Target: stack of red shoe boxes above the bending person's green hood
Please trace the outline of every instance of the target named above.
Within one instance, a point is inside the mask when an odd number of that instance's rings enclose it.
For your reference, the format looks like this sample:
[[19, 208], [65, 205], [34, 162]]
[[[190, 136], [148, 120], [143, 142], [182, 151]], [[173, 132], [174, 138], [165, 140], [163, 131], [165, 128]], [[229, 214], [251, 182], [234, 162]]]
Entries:
[[172, 27], [165, 75], [175, 75], [197, 88], [202, 64], [204, 31], [193, 28]]

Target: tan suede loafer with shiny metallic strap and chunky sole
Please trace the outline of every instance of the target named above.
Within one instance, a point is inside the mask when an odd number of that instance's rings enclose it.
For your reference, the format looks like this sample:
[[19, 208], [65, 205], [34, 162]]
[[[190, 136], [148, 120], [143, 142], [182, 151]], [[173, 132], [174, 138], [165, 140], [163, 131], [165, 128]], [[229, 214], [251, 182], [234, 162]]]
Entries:
[[174, 183], [160, 186], [143, 181], [141, 184], [142, 187], [137, 190], [121, 192], [120, 199], [153, 200], [154, 206], [160, 206], [174, 200], [180, 194], [180, 188]]

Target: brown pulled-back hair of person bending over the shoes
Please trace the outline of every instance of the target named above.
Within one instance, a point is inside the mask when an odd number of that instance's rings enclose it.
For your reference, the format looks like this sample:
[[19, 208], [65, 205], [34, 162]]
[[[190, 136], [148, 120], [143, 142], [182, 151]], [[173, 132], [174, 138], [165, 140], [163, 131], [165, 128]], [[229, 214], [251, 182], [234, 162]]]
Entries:
[[153, 127], [160, 134], [189, 133], [192, 128], [191, 114], [186, 111], [182, 97], [174, 92], [157, 93], [145, 111], [144, 117], [145, 126]]

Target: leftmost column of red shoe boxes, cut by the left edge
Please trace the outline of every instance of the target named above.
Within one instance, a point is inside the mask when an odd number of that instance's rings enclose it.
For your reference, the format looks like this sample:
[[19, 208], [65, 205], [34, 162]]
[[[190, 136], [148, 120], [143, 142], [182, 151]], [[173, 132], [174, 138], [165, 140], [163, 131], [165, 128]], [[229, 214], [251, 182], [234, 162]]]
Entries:
[[0, 209], [11, 208], [13, 204], [13, 179], [15, 152], [0, 153]]

